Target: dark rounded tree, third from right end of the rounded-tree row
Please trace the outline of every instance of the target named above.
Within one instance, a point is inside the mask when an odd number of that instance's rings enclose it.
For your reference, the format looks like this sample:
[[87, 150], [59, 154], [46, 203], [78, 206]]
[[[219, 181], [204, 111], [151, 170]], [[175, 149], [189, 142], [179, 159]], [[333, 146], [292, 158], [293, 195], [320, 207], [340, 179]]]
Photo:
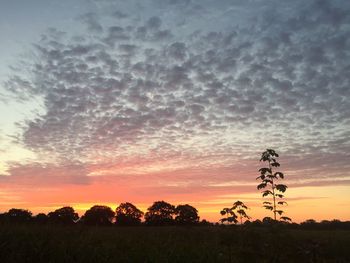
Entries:
[[143, 217], [143, 212], [128, 202], [121, 203], [115, 212], [115, 223], [120, 226], [139, 225]]

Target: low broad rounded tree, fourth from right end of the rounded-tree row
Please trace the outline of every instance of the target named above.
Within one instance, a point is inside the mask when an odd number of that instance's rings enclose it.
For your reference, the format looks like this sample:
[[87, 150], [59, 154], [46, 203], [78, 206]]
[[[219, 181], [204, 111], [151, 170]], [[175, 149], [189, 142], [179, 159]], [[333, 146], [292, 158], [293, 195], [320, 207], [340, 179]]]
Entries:
[[80, 221], [86, 225], [107, 226], [112, 224], [113, 210], [104, 205], [95, 205], [85, 212]]

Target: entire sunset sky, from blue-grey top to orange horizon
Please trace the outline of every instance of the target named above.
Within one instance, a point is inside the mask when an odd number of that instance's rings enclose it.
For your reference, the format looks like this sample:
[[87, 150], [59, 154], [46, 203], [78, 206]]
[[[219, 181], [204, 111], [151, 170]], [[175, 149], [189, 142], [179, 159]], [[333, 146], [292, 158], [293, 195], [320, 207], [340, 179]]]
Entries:
[[350, 220], [347, 0], [2, 0], [0, 212], [154, 201]]

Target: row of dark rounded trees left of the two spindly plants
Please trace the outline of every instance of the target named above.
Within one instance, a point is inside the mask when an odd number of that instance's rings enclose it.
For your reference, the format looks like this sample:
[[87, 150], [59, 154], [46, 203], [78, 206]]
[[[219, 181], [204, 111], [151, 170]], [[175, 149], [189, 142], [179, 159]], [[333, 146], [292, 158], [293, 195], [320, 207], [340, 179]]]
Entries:
[[[142, 218], [144, 221], [142, 222]], [[0, 214], [0, 222], [14, 223], [53, 223], [53, 224], [84, 224], [95, 226], [137, 226], [137, 225], [196, 225], [207, 224], [199, 221], [198, 210], [191, 205], [174, 206], [165, 201], [156, 201], [144, 213], [132, 203], [121, 203], [115, 211], [109, 206], [94, 205], [84, 215], [79, 217], [73, 207], [66, 206], [48, 214], [39, 213], [35, 216], [29, 210], [12, 208]]]

